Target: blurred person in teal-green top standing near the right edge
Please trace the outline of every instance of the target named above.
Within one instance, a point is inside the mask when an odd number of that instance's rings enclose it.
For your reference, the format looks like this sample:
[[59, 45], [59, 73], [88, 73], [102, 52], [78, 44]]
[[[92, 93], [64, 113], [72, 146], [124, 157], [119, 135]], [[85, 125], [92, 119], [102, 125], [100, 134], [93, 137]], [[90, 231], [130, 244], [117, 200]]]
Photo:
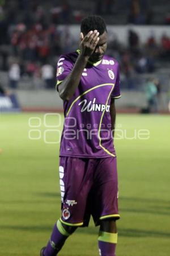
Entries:
[[145, 92], [146, 92], [146, 99], [147, 99], [147, 110], [148, 113], [156, 113], [158, 112], [158, 101], [157, 101], [157, 93], [158, 89], [156, 87], [157, 79], [148, 79], [146, 86], [145, 86]]

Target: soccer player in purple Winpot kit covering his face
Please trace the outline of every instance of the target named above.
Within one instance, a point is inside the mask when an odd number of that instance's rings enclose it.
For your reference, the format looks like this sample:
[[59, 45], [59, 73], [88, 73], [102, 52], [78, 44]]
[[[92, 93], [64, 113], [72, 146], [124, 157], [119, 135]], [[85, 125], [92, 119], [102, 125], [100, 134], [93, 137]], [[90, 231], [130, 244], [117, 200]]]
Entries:
[[103, 18], [87, 16], [79, 49], [58, 61], [57, 90], [65, 115], [59, 154], [62, 213], [41, 256], [58, 255], [76, 228], [88, 226], [90, 216], [100, 225], [100, 256], [115, 256], [120, 215], [114, 99], [121, 95], [118, 62], [105, 55], [107, 38]]

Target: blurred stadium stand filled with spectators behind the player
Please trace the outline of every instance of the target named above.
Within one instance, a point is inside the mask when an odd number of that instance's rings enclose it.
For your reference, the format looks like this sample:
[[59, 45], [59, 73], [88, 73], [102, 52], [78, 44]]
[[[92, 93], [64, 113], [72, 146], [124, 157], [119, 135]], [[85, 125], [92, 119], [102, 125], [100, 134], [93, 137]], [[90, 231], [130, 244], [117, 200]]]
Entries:
[[[158, 38], [151, 27], [150, 35], [143, 42], [140, 28], [138, 31], [131, 27], [131, 24], [162, 24], [166, 28], [170, 13], [170, 2], [166, 0], [2, 0], [0, 72], [3, 86], [13, 89], [53, 88], [59, 55], [77, 47], [77, 32], [70, 28], [70, 24], [75, 26], [84, 16], [94, 13], [102, 15], [107, 24], [114, 27], [129, 24], [126, 43], [118, 38], [116, 32], [119, 28], [116, 27], [108, 46], [108, 54], [120, 62], [122, 88], [143, 90], [147, 78], [156, 76], [161, 81], [161, 90], [167, 91], [169, 34], [162, 30]], [[50, 70], [50, 84], [42, 77], [44, 65]], [[10, 79], [11, 74], [18, 77], [17, 81]]]

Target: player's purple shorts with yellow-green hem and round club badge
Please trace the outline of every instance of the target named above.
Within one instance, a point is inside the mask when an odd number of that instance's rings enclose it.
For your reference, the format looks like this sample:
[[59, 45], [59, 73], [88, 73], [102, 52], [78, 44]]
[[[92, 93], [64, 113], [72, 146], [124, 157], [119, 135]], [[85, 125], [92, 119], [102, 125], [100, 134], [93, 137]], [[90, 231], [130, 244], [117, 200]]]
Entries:
[[61, 222], [70, 226], [88, 226], [90, 216], [95, 225], [118, 214], [116, 157], [59, 158], [61, 188]]

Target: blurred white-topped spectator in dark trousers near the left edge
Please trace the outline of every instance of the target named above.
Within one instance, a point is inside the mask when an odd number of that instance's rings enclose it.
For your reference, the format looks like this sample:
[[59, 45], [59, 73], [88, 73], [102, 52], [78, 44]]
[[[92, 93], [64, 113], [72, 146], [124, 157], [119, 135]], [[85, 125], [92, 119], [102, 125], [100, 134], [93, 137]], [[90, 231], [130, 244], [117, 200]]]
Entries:
[[18, 63], [13, 63], [8, 71], [8, 77], [10, 82], [10, 88], [18, 88], [18, 82], [20, 80], [20, 67]]

